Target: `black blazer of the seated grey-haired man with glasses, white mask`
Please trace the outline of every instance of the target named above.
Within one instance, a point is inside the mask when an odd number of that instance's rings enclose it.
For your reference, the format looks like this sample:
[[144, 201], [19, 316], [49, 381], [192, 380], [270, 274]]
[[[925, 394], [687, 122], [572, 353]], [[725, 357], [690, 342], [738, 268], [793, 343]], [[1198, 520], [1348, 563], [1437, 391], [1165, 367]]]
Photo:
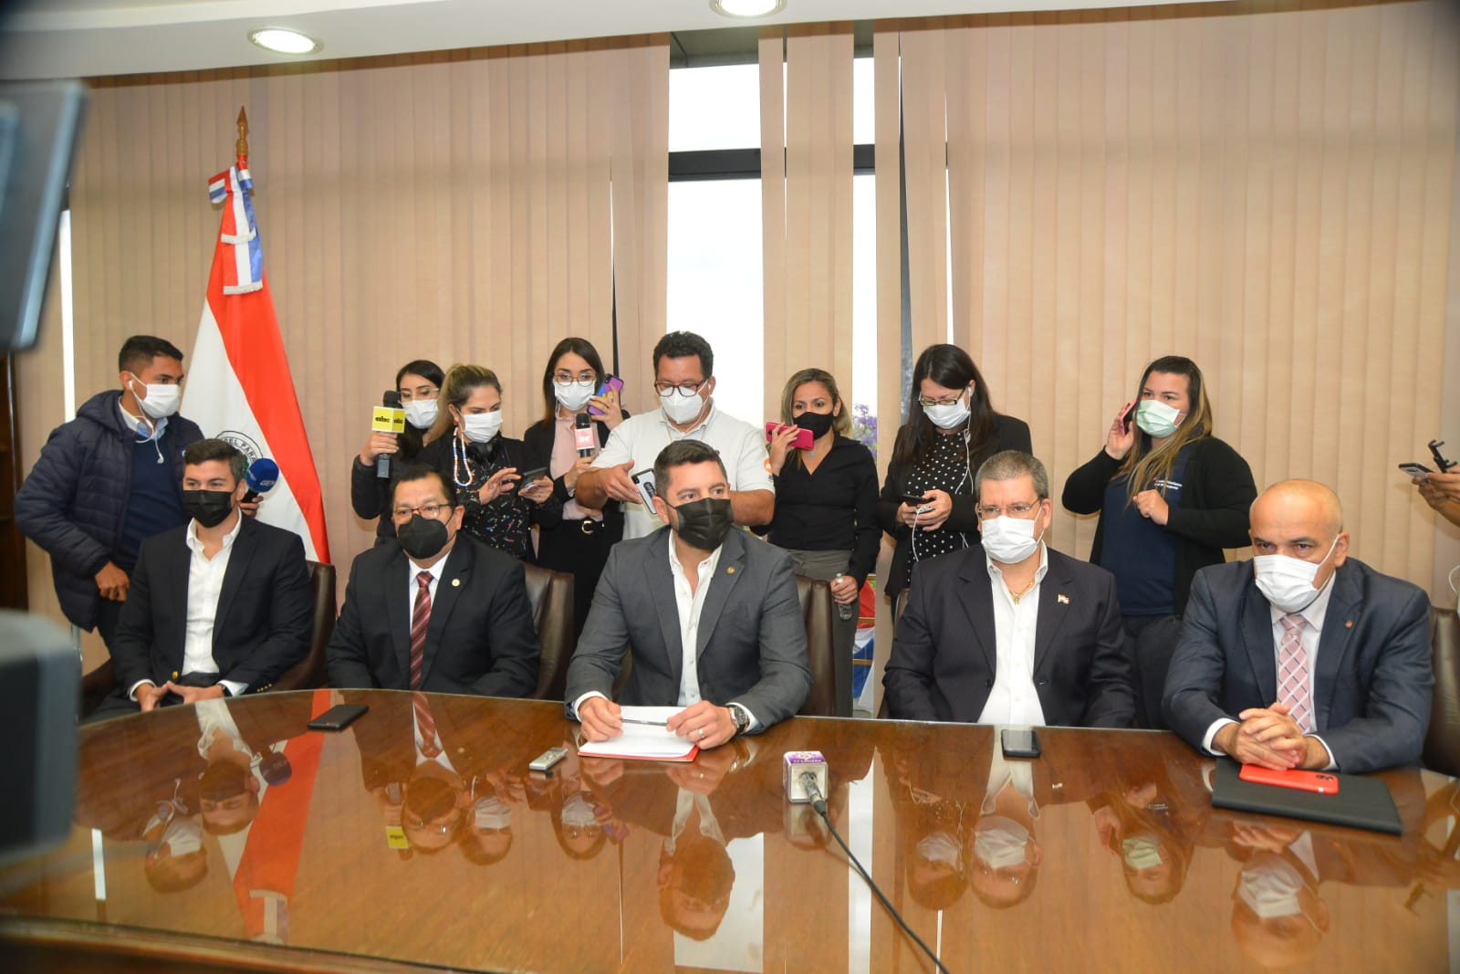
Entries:
[[[996, 666], [983, 546], [918, 562], [882, 676], [892, 716], [975, 723]], [[1048, 726], [1130, 727], [1136, 717], [1115, 577], [1057, 551], [1040, 584], [1034, 686]]]

